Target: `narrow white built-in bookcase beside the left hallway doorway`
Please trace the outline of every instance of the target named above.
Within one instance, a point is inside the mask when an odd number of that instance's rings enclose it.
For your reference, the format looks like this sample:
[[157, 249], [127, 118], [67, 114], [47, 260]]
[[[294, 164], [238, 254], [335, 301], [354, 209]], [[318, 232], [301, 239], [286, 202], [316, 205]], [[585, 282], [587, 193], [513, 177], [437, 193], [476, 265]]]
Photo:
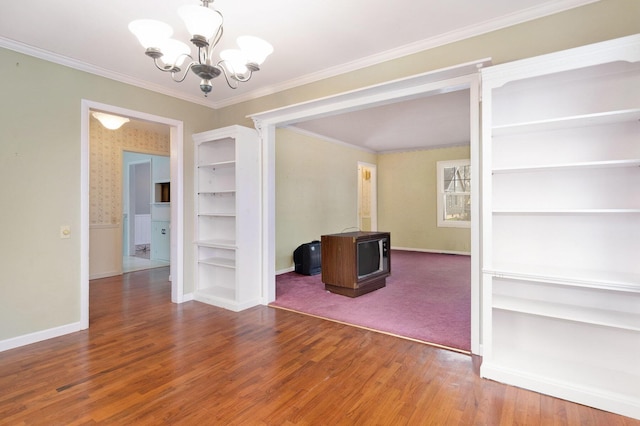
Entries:
[[260, 145], [241, 126], [193, 135], [194, 299], [233, 311], [261, 303]]

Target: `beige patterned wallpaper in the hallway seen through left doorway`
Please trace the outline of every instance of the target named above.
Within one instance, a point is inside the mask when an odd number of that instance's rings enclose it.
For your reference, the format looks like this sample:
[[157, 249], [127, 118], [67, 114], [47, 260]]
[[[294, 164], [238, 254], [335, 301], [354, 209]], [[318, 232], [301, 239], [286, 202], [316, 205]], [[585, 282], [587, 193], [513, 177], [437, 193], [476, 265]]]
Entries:
[[[129, 127], [128, 127], [129, 126]], [[89, 123], [89, 223], [115, 225], [122, 220], [122, 151], [170, 155], [169, 135], [135, 129], [127, 123], [105, 129]]]

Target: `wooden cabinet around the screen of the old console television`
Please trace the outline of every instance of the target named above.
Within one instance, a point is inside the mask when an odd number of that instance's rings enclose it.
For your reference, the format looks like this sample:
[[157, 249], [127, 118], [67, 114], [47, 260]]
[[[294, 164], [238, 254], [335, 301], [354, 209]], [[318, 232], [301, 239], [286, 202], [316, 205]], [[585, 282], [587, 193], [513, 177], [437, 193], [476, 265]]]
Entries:
[[[391, 274], [391, 237], [388, 232], [345, 232], [322, 237], [322, 282], [325, 289], [343, 296], [358, 297], [386, 285]], [[358, 277], [358, 243], [385, 239], [386, 267]]]

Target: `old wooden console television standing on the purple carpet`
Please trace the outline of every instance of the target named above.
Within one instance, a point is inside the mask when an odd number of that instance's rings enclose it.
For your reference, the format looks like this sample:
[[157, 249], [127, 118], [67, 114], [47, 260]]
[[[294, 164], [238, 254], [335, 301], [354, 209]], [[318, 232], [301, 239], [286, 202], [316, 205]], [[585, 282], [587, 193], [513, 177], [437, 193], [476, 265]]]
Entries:
[[357, 297], [386, 285], [391, 274], [388, 232], [344, 232], [322, 236], [325, 289]]

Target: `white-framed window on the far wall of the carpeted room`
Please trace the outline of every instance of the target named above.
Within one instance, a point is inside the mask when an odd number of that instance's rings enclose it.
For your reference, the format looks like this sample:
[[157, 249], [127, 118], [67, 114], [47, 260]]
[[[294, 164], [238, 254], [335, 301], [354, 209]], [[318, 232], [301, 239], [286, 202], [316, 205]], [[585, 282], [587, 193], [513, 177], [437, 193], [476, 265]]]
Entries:
[[438, 161], [438, 226], [471, 226], [471, 164], [469, 160]]

